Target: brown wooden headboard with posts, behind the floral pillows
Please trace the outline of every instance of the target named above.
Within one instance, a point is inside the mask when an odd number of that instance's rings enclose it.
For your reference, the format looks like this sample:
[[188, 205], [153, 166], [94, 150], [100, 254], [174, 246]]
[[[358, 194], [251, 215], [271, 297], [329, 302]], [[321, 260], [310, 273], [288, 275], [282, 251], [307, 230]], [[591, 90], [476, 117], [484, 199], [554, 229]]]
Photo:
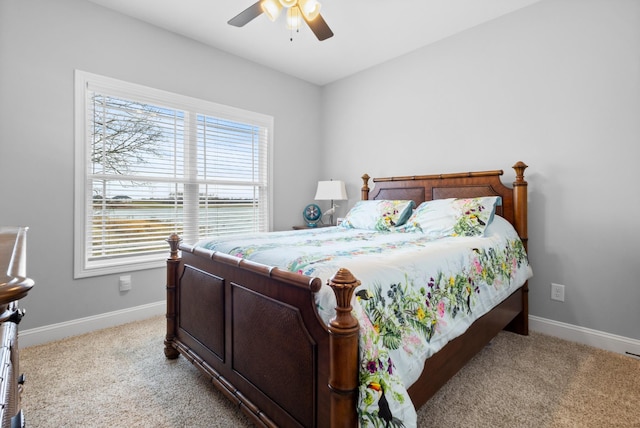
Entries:
[[424, 201], [446, 198], [474, 198], [480, 196], [500, 196], [502, 204], [496, 213], [507, 219], [522, 242], [527, 246], [527, 182], [524, 180], [523, 162], [517, 162], [513, 169], [516, 180], [513, 187], [507, 187], [500, 180], [502, 170], [476, 171], [453, 174], [416, 175], [405, 177], [374, 178], [375, 187], [369, 188], [369, 177], [362, 176], [362, 199], [408, 200], [416, 207]]

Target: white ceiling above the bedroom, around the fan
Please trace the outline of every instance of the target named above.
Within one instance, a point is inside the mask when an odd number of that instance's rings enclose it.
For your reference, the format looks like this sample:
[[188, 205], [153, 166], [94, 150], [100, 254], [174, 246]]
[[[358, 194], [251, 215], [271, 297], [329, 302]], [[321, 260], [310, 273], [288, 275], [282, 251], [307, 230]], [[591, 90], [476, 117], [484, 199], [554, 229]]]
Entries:
[[318, 41], [284, 14], [227, 21], [256, 0], [89, 0], [289, 75], [324, 85], [540, 0], [319, 0], [335, 34]]

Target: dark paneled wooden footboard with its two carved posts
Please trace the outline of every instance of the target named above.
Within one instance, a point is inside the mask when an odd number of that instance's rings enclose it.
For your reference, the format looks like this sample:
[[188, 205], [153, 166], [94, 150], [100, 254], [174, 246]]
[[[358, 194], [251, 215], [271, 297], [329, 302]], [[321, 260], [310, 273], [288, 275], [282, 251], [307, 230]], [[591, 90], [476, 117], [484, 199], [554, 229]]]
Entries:
[[351, 273], [329, 283], [338, 308], [326, 326], [313, 297], [320, 279], [179, 247], [179, 239], [169, 239], [165, 355], [184, 355], [259, 426], [356, 426], [350, 302], [359, 282]]

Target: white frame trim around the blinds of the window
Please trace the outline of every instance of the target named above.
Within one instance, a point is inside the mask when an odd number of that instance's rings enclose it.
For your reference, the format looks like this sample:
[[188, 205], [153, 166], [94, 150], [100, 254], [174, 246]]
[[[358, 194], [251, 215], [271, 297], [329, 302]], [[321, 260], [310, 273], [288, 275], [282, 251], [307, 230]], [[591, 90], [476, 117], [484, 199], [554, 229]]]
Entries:
[[[130, 256], [89, 261], [87, 244], [87, 216], [91, 213], [92, 188], [89, 185], [91, 130], [87, 126], [88, 106], [92, 90], [105, 91], [110, 96], [158, 104], [175, 109], [204, 113], [224, 120], [252, 123], [267, 129], [267, 228], [273, 230], [273, 117], [193, 97], [125, 82], [97, 74], [75, 70], [75, 198], [74, 198], [74, 277], [159, 268], [165, 265], [169, 253], [153, 256]], [[187, 225], [185, 225], [187, 227]]]

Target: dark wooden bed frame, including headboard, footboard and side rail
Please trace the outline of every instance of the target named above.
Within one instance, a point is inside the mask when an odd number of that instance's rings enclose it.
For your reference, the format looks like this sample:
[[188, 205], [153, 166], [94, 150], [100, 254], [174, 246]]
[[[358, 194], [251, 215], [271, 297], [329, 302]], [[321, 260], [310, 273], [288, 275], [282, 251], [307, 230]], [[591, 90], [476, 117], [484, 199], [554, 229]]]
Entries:
[[[527, 166], [502, 170], [373, 179], [363, 178], [362, 199], [425, 200], [498, 195], [497, 214], [511, 222], [527, 245]], [[258, 426], [357, 426], [358, 323], [351, 297], [358, 281], [341, 269], [329, 281], [336, 317], [325, 325], [311, 278], [168, 239], [165, 355], [183, 355]], [[180, 257], [180, 251], [182, 257]], [[462, 336], [429, 358], [409, 389], [419, 407], [500, 330], [528, 334], [525, 283]]]

